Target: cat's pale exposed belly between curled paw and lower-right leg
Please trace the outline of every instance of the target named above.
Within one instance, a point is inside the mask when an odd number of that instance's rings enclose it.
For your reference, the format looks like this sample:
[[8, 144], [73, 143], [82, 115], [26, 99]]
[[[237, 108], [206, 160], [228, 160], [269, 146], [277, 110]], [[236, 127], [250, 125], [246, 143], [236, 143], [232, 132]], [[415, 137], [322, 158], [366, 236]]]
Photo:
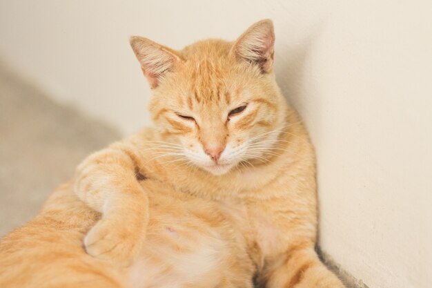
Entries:
[[131, 288], [221, 287], [232, 278], [251, 287], [246, 244], [215, 203], [150, 196], [146, 235], [130, 268]]

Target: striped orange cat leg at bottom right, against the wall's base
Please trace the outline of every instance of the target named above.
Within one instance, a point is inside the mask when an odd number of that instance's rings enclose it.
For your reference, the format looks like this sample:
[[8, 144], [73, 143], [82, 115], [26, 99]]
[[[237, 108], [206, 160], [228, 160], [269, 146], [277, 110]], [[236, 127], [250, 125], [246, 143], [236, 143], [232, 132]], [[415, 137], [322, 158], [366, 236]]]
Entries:
[[315, 253], [313, 243], [293, 244], [267, 271], [266, 288], [344, 288]]

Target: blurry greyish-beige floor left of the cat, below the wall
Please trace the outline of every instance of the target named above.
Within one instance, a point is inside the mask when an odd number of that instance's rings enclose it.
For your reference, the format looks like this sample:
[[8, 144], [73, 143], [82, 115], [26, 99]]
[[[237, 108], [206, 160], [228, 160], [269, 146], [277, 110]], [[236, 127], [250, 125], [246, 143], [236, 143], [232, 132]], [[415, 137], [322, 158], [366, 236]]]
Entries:
[[37, 214], [90, 152], [119, 133], [60, 106], [0, 66], [0, 237]]

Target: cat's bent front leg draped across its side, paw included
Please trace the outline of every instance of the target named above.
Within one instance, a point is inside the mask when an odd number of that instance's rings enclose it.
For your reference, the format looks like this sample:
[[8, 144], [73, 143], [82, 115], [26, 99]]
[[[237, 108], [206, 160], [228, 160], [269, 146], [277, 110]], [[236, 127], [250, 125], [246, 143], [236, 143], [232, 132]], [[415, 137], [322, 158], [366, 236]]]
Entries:
[[139, 180], [139, 148], [129, 140], [90, 155], [78, 167], [75, 193], [102, 218], [84, 238], [87, 253], [128, 265], [137, 256], [148, 222], [147, 191]]

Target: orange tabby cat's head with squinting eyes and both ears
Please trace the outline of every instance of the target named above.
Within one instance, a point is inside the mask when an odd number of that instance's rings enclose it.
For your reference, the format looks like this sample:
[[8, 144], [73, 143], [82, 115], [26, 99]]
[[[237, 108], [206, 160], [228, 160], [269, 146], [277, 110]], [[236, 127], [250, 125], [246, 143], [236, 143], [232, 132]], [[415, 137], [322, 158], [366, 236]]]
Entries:
[[175, 155], [222, 175], [264, 163], [284, 125], [286, 101], [273, 74], [271, 20], [237, 41], [205, 40], [176, 51], [143, 37], [130, 44], [152, 88], [150, 113]]

